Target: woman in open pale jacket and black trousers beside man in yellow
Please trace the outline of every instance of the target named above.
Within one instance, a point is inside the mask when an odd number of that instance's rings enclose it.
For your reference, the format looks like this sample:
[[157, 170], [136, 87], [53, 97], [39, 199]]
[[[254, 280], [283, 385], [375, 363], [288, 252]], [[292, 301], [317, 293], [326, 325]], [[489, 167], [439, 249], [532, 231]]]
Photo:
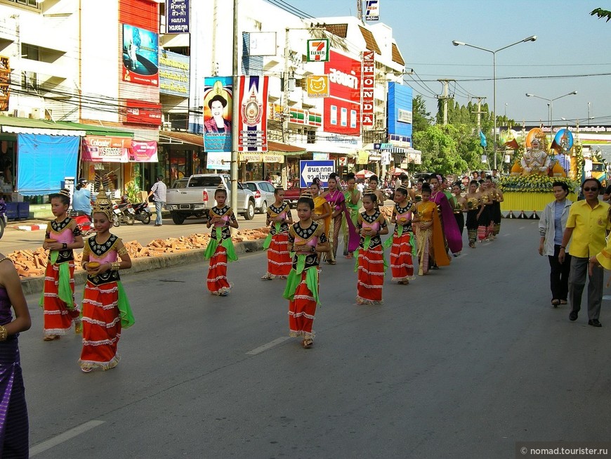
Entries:
[[[563, 240], [563, 233], [567, 225], [569, 209], [572, 202], [567, 199], [569, 187], [563, 181], [555, 181], [552, 185], [553, 196], [556, 200], [546, 205], [539, 220], [539, 254], [547, 255], [549, 259], [551, 305], [567, 304], [568, 281], [570, 273], [570, 255], [567, 253], [564, 263], [558, 261], [558, 253]], [[568, 249], [568, 247], [567, 247]], [[568, 252], [568, 250], [567, 250]]]

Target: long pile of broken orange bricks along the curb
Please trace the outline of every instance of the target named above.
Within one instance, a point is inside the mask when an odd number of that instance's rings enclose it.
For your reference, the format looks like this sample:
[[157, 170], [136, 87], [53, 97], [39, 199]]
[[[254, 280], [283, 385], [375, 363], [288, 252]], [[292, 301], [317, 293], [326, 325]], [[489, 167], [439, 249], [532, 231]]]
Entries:
[[[269, 228], [247, 229], [237, 232], [233, 238], [234, 243], [244, 240], [265, 239], [270, 232]], [[180, 236], [180, 238], [155, 239], [146, 246], [136, 240], [124, 243], [127, 253], [131, 259], [143, 257], [158, 257], [168, 253], [185, 252], [186, 250], [205, 249], [210, 240], [210, 234], [192, 234]], [[82, 250], [74, 252], [74, 264], [77, 271], [81, 271]], [[8, 254], [13, 260], [15, 269], [20, 277], [44, 276], [48, 260], [48, 252], [40, 247], [37, 250], [17, 250]]]

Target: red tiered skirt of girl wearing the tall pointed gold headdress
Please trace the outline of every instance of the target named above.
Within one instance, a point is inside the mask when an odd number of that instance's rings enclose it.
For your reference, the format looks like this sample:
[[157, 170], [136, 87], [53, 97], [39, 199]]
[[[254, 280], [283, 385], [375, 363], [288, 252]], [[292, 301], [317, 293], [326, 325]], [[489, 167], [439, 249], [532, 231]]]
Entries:
[[81, 368], [110, 370], [119, 363], [121, 337], [119, 287], [116, 282], [94, 285], [87, 281], [83, 297], [83, 350]]

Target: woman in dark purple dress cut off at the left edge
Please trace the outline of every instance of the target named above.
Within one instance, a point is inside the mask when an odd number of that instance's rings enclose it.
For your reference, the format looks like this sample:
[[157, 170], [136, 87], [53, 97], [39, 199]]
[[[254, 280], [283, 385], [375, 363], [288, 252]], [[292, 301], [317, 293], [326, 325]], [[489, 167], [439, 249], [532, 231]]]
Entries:
[[29, 457], [29, 426], [17, 337], [31, 325], [17, 271], [11, 260], [0, 254], [0, 458]]

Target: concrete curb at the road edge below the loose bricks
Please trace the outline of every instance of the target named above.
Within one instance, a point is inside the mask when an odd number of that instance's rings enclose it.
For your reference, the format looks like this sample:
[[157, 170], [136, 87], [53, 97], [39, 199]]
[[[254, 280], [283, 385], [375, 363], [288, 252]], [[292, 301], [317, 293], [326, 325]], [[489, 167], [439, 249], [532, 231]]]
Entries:
[[[247, 240], [235, 245], [236, 254], [247, 254], [251, 252], [259, 252], [263, 250], [263, 239]], [[172, 266], [182, 266], [185, 264], [197, 263], [204, 261], [204, 252], [206, 249], [195, 249], [189, 252], [176, 254], [164, 254], [159, 257], [136, 258], [132, 260], [130, 269], [125, 269], [125, 275], [142, 273], [145, 271], [155, 271], [156, 269], [171, 268]], [[84, 285], [87, 280], [85, 271], [74, 273], [74, 285]], [[44, 276], [25, 278], [21, 280], [21, 287], [25, 295], [33, 295], [41, 293], [44, 286]]]

